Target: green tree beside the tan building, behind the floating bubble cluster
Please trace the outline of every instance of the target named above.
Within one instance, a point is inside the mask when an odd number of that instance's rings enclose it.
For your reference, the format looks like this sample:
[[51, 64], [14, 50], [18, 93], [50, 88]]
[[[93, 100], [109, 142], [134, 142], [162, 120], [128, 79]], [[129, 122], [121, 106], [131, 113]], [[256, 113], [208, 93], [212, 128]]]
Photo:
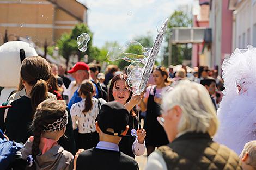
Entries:
[[[90, 41], [87, 43], [87, 51], [81, 52], [77, 48], [76, 39], [82, 33], [87, 33], [90, 36]], [[89, 56], [89, 62], [93, 60], [97, 60], [97, 56], [100, 54], [100, 50], [97, 47], [92, 45], [93, 42], [93, 33], [90, 29], [83, 23], [77, 24], [74, 29], [72, 29], [71, 33], [64, 33], [60, 39], [57, 41], [57, 47], [59, 47], [60, 55], [64, 56], [67, 60], [67, 64], [69, 62], [69, 57], [71, 54], [77, 54], [79, 58], [83, 58], [85, 54]]]

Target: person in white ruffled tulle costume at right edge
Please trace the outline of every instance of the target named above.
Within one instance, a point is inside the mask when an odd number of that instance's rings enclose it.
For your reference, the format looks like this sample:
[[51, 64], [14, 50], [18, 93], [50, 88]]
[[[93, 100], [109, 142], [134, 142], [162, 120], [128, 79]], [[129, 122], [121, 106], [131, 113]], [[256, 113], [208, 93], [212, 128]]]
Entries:
[[239, 155], [247, 142], [256, 140], [256, 48], [235, 49], [222, 70], [225, 90], [214, 140]]

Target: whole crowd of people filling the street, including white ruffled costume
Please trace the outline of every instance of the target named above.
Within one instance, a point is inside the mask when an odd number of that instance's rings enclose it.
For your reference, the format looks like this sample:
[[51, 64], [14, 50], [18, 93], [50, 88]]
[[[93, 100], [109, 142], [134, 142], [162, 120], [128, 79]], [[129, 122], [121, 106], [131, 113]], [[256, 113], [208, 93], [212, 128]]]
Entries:
[[0, 108], [3, 138], [23, 144], [5, 169], [139, 169], [146, 150], [147, 170], [256, 169], [256, 50], [236, 54], [223, 79], [208, 66], [155, 66], [140, 95], [127, 67], [27, 57]]

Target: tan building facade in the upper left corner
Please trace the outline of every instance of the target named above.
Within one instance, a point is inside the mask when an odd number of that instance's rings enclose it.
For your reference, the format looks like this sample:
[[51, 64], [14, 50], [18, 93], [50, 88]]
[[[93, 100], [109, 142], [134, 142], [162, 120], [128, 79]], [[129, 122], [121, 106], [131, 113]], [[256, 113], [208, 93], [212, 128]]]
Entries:
[[88, 8], [76, 0], [0, 0], [0, 44], [26, 37], [43, 46], [56, 42], [77, 23], [87, 24]]

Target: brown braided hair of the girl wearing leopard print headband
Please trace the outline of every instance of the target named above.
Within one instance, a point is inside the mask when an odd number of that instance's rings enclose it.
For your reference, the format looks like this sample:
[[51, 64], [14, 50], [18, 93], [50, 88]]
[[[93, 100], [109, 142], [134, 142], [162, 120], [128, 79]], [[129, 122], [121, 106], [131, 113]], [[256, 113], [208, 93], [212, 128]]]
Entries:
[[[34, 134], [32, 144], [32, 156], [36, 160], [36, 155], [40, 153], [39, 144], [44, 126], [52, 124], [65, 114], [66, 103], [63, 100], [47, 99], [40, 103], [36, 109], [31, 129]], [[32, 169], [36, 169], [33, 164]]]

